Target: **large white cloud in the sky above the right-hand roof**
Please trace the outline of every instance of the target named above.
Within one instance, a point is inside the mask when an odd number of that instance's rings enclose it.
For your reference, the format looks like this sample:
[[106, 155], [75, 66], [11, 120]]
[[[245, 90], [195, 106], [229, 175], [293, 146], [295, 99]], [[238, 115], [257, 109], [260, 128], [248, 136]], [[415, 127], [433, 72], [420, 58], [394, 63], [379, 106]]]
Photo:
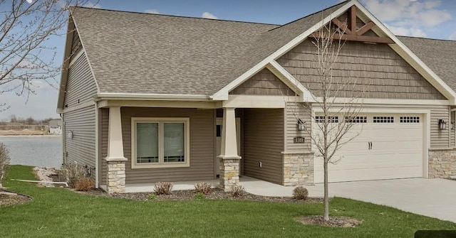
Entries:
[[[388, 24], [393, 33], [400, 36], [425, 37], [432, 30], [452, 18], [442, 9], [442, 1], [410, 0], [362, 0], [366, 8], [380, 21]], [[386, 25], [386, 24], [385, 24]]]

